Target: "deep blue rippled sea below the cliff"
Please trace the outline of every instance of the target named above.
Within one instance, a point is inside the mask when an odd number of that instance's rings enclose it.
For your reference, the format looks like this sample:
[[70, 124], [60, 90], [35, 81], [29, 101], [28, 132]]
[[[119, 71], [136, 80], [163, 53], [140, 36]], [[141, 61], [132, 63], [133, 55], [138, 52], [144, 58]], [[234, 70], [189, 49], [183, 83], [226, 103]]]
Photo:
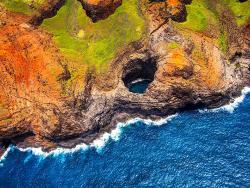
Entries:
[[11, 147], [0, 163], [0, 187], [249, 188], [250, 95], [228, 111], [130, 123], [98, 149], [45, 157]]

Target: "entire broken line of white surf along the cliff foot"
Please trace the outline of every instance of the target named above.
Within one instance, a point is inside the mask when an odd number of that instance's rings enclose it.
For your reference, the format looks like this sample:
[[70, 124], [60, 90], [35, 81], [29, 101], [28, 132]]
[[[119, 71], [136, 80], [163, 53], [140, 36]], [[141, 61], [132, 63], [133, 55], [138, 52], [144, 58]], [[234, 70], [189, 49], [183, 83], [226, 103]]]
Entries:
[[[238, 108], [238, 106], [244, 101], [246, 96], [250, 93], [250, 87], [244, 87], [241, 91], [241, 95], [236, 97], [233, 102], [230, 102], [229, 104], [223, 105], [218, 108], [214, 109], [197, 109], [199, 113], [217, 113], [221, 111], [227, 111], [229, 113], [233, 113], [233, 111]], [[86, 151], [90, 148], [95, 148], [97, 152], [100, 152], [103, 147], [106, 146], [108, 141], [118, 141], [120, 135], [122, 134], [122, 129], [124, 127], [127, 127], [131, 124], [142, 122], [146, 125], [153, 125], [153, 126], [160, 126], [162, 124], [165, 124], [175, 117], [177, 117], [178, 114], [167, 116], [166, 118], [161, 118], [159, 120], [151, 120], [151, 119], [142, 119], [142, 118], [132, 118], [126, 122], [119, 122], [117, 123], [116, 127], [112, 129], [110, 132], [104, 132], [100, 137], [94, 139], [94, 141], [90, 144], [77, 144], [75, 147], [72, 148], [63, 148], [63, 147], [57, 147], [55, 149], [52, 149], [49, 152], [43, 151], [42, 147], [27, 147], [27, 148], [20, 148], [18, 146], [9, 146], [6, 148], [1, 154], [0, 154], [0, 163], [3, 162], [9, 151], [11, 151], [12, 148], [18, 149], [21, 152], [31, 152], [32, 155], [40, 156], [42, 158], [46, 158], [48, 156], [58, 156], [58, 155], [64, 155], [69, 153], [74, 153], [80, 150]]]

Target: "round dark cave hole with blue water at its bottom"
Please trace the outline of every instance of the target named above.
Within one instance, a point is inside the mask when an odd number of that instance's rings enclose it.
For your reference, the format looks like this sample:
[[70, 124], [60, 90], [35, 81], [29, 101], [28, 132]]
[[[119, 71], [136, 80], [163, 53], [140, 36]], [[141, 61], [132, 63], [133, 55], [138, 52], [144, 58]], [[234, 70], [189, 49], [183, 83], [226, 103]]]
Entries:
[[156, 70], [156, 58], [135, 59], [124, 68], [122, 80], [130, 92], [142, 94], [154, 80]]

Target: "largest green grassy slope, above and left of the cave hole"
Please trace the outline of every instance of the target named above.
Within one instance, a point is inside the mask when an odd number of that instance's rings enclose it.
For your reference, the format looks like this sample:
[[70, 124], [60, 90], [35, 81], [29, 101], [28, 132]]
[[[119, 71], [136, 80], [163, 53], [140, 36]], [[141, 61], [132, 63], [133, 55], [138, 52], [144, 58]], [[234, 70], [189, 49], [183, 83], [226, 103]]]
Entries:
[[137, 6], [137, 0], [123, 1], [113, 15], [93, 23], [79, 2], [67, 0], [56, 16], [44, 20], [42, 27], [54, 34], [66, 56], [101, 70], [119, 48], [142, 37], [144, 20]]

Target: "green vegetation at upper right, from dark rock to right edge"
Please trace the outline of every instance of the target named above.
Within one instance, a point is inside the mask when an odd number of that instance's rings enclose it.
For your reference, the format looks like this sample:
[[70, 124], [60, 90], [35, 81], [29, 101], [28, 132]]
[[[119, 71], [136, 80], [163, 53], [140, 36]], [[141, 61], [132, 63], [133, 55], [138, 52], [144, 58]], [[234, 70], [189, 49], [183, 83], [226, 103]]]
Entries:
[[193, 0], [186, 8], [187, 21], [174, 24], [192, 31], [218, 33], [217, 41], [224, 53], [228, 50], [228, 42], [227, 33], [219, 21], [220, 13], [227, 10], [228, 14], [233, 14], [238, 26], [245, 24], [250, 18], [250, 1], [240, 3], [239, 0], [219, 0], [215, 3], [209, 0]]

